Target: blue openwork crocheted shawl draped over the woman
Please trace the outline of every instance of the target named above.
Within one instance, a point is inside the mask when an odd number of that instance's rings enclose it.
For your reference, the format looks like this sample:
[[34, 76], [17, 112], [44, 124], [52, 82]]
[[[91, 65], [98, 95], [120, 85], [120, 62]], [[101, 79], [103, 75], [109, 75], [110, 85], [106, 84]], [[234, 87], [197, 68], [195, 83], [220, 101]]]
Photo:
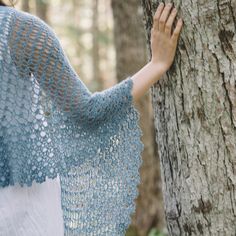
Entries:
[[124, 235], [144, 148], [131, 77], [91, 93], [43, 20], [0, 7], [0, 24], [0, 187], [59, 175], [65, 235]]

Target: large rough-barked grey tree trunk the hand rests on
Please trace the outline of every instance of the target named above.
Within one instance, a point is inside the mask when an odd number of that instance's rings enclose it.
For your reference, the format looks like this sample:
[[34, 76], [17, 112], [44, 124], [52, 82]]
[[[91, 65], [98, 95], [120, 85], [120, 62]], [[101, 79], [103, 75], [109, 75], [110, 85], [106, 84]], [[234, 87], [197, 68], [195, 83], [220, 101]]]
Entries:
[[[236, 1], [173, 2], [184, 25], [173, 65], [151, 88], [168, 230], [235, 236]], [[150, 38], [160, 1], [142, 3]]]

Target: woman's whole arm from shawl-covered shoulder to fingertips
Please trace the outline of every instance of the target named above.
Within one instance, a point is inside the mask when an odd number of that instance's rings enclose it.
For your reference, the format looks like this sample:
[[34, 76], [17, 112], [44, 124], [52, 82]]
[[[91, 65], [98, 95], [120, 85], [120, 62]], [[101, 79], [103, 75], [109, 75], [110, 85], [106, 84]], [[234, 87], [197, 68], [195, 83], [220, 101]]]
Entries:
[[125, 112], [132, 100], [138, 100], [173, 60], [180, 24], [175, 30], [176, 34], [170, 38], [167, 26], [172, 25], [172, 14], [164, 33], [161, 25], [166, 20], [169, 8], [161, 15], [162, 8], [160, 4], [154, 17], [151, 62], [135, 75], [94, 93], [89, 91], [71, 66], [52, 28], [34, 15], [15, 10], [8, 43], [17, 73], [26, 79], [29, 74], [34, 75], [53, 104], [80, 124], [96, 125], [113, 119]]

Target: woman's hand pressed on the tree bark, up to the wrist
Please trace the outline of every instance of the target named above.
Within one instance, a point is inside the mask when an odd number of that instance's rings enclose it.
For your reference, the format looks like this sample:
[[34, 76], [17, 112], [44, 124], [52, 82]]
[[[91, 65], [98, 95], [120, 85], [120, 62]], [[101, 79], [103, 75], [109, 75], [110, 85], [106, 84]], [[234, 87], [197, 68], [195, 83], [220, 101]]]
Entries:
[[180, 18], [172, 33], [172, 25], [177, 14], [176, 8], [172, 8], [172, 3], [164, 6], [160, 3], [153, 17], [153, 27], [151, 30], [151, 63], [155, 64], [165, 73], [174, 60], [178, 38], [183, 25]]

